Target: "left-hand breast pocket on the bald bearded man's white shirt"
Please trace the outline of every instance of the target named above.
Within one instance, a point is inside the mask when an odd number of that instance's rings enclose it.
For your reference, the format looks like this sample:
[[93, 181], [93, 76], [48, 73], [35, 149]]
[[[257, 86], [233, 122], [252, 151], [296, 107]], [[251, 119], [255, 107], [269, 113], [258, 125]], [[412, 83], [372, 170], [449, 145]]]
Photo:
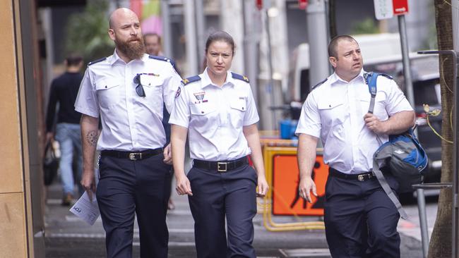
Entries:
[[117, 80], [106, 78], [97, 80], [95, 90], [100, 106], [105, 108], [119, 104], [124, 99], [123, 87]]

